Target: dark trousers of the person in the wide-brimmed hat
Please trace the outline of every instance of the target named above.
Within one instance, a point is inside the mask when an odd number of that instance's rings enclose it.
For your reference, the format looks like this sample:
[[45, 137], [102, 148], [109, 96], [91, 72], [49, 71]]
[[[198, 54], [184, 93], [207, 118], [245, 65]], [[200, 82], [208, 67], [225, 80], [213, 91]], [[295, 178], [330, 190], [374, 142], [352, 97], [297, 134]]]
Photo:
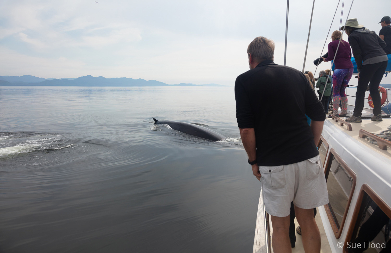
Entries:
[[379, 84], [382, 81], [384, 71], [387, 68], [387, 61], [380, 63], [362, 65], [360, 71], [359, 83], [357, 84], [356, 104], [353, 111], [353, 116], [359, 117], [362, 115], [364, 108], [364, 96], [369, 83], [369, 93], [373, 101], [373, 115], [382, 113], [381, 99], [379, 94]]

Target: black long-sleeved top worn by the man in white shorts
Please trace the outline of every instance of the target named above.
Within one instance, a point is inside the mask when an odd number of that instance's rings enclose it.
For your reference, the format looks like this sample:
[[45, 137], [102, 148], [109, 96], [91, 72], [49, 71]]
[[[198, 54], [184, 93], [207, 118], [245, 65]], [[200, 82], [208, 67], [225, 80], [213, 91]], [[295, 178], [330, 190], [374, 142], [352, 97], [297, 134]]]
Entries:
[[305, 115], [323, 121], [325, 109], [300, 71], [262, 61], [237, 77], [235, 99], [238, 126], [255, 130], [258, 166], [292, 164], [319, 154]]

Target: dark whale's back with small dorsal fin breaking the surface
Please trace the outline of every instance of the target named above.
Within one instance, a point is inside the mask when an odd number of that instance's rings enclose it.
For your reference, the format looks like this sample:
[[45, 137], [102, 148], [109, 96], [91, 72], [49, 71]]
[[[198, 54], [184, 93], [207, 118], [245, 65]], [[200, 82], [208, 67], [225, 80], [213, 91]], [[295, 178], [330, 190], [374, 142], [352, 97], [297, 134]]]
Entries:
[[185, 122], [178, 122], [178, 121], [160, 121], [156, 118], [153, 118], [156, 125], [159, 124], [167, 124], [172, 129], [180, 131], [182, 133], [187, 133], [188, 135], [194, 135], [197, 137], [205, 138], [212, 141], [218, 141], [226, 139], [226, 137], [216, 133], [215, 131], [210, 130], [209, 128], [198, 126], [195, 124], [185, 123]]

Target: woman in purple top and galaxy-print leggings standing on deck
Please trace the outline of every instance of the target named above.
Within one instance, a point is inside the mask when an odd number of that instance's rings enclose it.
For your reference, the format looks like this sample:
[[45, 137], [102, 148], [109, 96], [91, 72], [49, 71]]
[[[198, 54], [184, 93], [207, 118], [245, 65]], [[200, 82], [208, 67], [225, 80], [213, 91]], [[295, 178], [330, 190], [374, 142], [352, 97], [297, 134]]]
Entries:
[[[342, 39], [342, 33], [340, 31], [334, 31], [331, 35], [331, 40], [332, 42], [328, 44], [328, 57], [322, 58], [323, 61], [332, 61], [335, 52], [337, 52], [333, 74], [333, 114], [338, 115], [338, 106], [339, 102], [341, 102], [341, 114], [338, 117], [345, 117], [348, 113], [348, 97], [346, 97], [345, 90], [353, 75], [352, 51], [350, 50], [349, 43]], [[341, 42], [339, 42], [340, 40]], [[329, 116], [329, 118], [331, 117]]]

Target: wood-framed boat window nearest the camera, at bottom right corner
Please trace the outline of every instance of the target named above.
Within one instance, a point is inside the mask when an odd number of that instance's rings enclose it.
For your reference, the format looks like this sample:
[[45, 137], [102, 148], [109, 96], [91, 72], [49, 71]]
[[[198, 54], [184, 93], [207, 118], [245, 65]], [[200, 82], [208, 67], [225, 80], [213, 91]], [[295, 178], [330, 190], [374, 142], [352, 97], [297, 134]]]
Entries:
[[345, 252], [391, 252], [391, 209], [363, 185], [344, 245]]

